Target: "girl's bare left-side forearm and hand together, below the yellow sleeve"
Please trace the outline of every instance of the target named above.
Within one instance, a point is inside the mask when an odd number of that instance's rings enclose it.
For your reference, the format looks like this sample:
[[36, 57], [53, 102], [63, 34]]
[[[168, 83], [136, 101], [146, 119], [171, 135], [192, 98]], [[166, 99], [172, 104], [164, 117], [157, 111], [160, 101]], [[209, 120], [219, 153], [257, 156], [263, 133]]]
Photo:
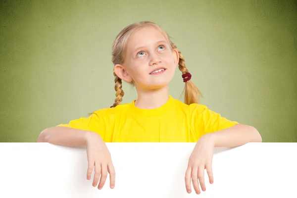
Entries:
[[108, 172], [110, 175], [110, 188], [114, 188], [115, 171], [111, 155], [99, 134], [82, 129], [56, 126], [41, 132], [37, 142], [68, 147], [86, 146], [88, 159], [87, 179], [91, 180], [94, 170], [93, 186], [96, 187], [100, 179], [98, 189], [102, 189]]

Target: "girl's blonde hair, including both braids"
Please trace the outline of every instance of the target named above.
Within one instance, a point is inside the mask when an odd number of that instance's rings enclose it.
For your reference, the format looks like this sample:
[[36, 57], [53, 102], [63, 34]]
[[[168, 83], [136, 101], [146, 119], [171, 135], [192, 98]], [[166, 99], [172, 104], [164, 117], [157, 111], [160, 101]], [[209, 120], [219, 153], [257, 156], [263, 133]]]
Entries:
[[[113, 42], [112, 45], [112, 62], [114, 65], [116, 64], [123, 64], [125, 61], [125, 50], [126, 45], [128, 42], [128, 39], [134, 33], [137, 29], [145, 26], [152, 26], [159, 30], [164, 36], [167, 42], [170, 44], [170, 48], [177, 49], [176, 45], [170, 40], [169, 35], [157, 24], [149, 21], [143, 21], [138, 23], [133, 23], [127, 27], [125, 27], [116, 37], [116, 39]], [[178, 49], [177, 49], [178, 50]], [[184, 56], [182, 55], [181, 51], [178, 50], [179, 53], [179, 69], [182, 72], [182, 74], [188, 73], [189, 70], [186, 67]], [[111, 107], [115, 107], [121, 103], [124, 96], [124, 91], [122, 89], [122, 80], [113, 72], [114, 75], [114, 82], [115, 86], [114, 89], [116, 91], [116, 98], [114, 100], [114, 103]], [[188, 78], [188, 77], [185, 77]], [[185, 82], [185, 88], [184, 88], [184, 102], [186, 104], [192, 104], [192, 103], [199, 103], [199, 97], [202, 96], [198, 88], [194, 85], [194, 83], [189, 80]]]

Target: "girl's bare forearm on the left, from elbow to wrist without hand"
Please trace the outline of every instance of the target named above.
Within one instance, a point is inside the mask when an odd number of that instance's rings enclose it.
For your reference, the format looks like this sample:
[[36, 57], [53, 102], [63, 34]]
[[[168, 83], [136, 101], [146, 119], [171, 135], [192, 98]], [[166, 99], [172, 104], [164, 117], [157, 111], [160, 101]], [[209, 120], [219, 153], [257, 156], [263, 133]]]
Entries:
[[51, 127], [45, 129], [38, 137], [37, 142], [47, 142], [54, 145], [68, 147], [85, 146], [90, 136], [95, 132], [73, 129], [69, 127]]

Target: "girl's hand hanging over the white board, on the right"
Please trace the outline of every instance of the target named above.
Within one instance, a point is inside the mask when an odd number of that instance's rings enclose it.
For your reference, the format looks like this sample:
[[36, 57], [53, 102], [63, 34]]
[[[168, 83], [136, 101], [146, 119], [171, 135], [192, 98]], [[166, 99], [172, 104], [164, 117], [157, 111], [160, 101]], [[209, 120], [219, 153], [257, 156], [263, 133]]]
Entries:
[[206, 191], [204, 182], [204, 169], [206, 168], [209, 183], [213, 183], [212, 176], [212, 156], [214, 149], [214, 140], [211, 134], [206, 134], [198, 140], [190, 158], [186, 171], [185, 182], [188, 193], [192, 192], [191, 179], [196, 194], [200, 194], [198, 180], [202, 191]]

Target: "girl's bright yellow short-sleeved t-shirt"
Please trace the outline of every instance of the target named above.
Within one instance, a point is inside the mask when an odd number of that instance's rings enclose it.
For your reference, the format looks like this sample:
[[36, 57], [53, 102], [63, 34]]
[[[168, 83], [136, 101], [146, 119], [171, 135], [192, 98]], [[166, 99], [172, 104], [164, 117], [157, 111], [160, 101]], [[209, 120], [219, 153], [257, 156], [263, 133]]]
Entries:
[[169, 96], [155, 109], [141, 109], [131, 103], [93, 112], [88, 118], [58, 126], [98, 133], [109, 142], [197, 142], [212, 133], [238, 124], [209, 110], [202, 104], [187, 105]]

